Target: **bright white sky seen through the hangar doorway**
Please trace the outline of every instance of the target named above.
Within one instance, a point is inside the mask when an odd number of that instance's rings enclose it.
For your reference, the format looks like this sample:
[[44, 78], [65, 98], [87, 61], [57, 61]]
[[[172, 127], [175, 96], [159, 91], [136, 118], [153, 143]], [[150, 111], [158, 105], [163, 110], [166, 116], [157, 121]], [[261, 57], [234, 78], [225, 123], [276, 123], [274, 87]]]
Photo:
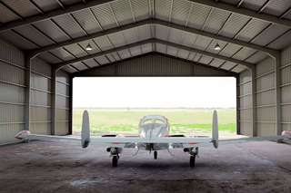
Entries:
[[234, 77], [77, 77], [73, 107], [236, 107]]

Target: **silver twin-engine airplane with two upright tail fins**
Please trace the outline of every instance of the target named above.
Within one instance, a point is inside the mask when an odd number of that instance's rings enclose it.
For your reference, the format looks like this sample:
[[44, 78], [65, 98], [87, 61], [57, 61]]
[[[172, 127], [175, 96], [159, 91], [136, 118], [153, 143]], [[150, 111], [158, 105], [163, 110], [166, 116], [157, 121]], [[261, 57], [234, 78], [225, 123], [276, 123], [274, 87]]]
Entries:
[[[212, 121], [212, 138], [169, 135], [169, 121], [163, 115], [146, 115], [138, 124], [139, 137], [125, 135], [103, 135], [90, 137], [89, 114], [84, 111], [81, 139], [61, 136], [49, 135], [33, 135], [28, 130], [22, 130], [15, 135], [17, 139], [23, 140], [53, 140], [64, 142], [81, 143], [83, 148], [88, 147], [89, 143], [97, 146], [108, 147], [106, 150], [110, 152], [112, 157], [112, 165], [117, 166], [124, 148], [134, 148], [137, 154], [138, 150], [154, 150], [154, 159], [157, 159], [157, 150], [168, 150], [175, 148], [183, 148], [190, 155], [190, 166], [195, 167], [196, 155], [198, 155], [198, 147], [212, 145], [217, 149], [219, 144], [233, 144], [261, 140], [287, 140], [291, 139], [291, 131], [285, 130], [282, 135], [272, 137], [254, 137], [230, 140], [218, 140], [217, 113], [214, 111]], [[171, 152], [169, 151], [171, 154]], [[171, 154], [172, 155], [172, 154]]]

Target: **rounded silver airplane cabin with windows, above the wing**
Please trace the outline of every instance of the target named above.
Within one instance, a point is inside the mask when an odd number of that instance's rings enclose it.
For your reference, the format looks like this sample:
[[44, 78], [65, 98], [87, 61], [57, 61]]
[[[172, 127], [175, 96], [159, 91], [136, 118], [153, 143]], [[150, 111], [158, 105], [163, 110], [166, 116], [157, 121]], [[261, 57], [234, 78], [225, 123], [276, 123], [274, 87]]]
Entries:
[[163, 138], [170, 133], [169, 121], [165, 116], [150, 114], [143, 117], [138, 124], [138, 135], [143, 138]]

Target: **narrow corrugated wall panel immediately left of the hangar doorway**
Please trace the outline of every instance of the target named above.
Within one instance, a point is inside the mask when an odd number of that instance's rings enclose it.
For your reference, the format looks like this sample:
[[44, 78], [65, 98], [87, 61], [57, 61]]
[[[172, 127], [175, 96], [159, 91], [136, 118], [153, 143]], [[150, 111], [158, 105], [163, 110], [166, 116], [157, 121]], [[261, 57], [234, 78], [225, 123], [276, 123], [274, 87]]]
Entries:
[[71, 82], [69, 74], [64, 71], [56, 72], [55, 99], [55, 135], [71, 133]]

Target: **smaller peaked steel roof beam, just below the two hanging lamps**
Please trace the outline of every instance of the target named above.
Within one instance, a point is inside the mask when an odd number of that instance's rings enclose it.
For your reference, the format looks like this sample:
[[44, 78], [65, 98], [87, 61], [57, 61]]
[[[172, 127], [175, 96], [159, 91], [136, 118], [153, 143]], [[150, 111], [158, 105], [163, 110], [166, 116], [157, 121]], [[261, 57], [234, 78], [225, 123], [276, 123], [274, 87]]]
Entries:
[[223, 61], [227, 61], [227, 62], [230, 62], [230, 63], [237, 63], [237, 64], [245, 65], [246, 68], [248, 68], [248, 69], [253, 69], [253, 67], [255, 66], [253, 63], [245, 63], [245, 62], [242, 62], [242, 61], [239, 61], [239, 60], [236, 60], [236, 59], [227, 58], [226, 56], [216, 55], [215, 53], [206, 53], [206, 52], [201, 51], [201, 50], [191, 49], [189, 47], [186, 47], [186, 46], [183, 46], [183, 45], [179, 45], [178, 43], [168, 43], [168, 42], [163, 41], [163, 40], [149, 39], [149, 40], [146, 40], [146, 41], [142, 41], [140, 43], [131, 43], [131, 44], [128, 44], [128, 46], [121, 46], [121, 47], [118, 47], [118, 48], [115, 48], [115, 49], [112, 49], [112, 50], [107, 50], [107, 51], [105, 51], [103, 53], [94, 53], [92, 55], [86, 55], [86, 56], [83, 56], [83, 57], [80, 57], [80, 58], [77, 58], [77, 59], [66, 61], [64, 63], [56, 63], [54, 65], [54, 67], [58, 70], [61, 67], [67, 65], [67, 64], [82, 62], [82, 61], [85, 61], [85, 60], [88, 60], [88, 59], [91, 59], [91, 58], [105, 56], [106, 54], [110, 54], [110, 53], [117, 53], [119, 51], [122, 51], [122, 50], [125, 50], [125, 49], [129, 49], [129, 48], [133, 48], [133, 47], [138, 46], [140, 44], [146, 44], [146, 43], [161, 43], [161, 44], [165, 44], [167, 46], [176, 47], [177, 49], [186, 50], [188, 52], [199, 53], [199, 54], [203, 54], [203, 55], [206, 55], [206, 56], [209, 56], [209, 57], [212, 57], [212, 58], [217, 58], [217, 59], [220, 59], [220, 60], [223, 60]]

